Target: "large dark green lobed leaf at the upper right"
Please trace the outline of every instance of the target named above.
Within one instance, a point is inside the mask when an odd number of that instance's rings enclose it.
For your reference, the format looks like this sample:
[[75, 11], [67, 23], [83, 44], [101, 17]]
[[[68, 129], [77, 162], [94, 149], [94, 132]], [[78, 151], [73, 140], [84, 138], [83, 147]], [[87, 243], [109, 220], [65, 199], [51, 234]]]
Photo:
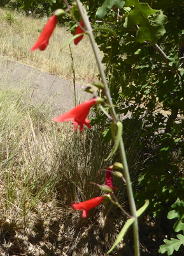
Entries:
[[158, 10], [150, 8], [147, 3], [139, 3], [137, 0], [128, 0], [125, 2], [125, 6], [132, 5], [134, 6], [134, 10], [131, 10], [129, 15], [127, 15], [124, 27], [132, 28], [139, 25], [137, 41], [143, 43], [148, 40], [155, 44], [160, 36], [166, 33], [166, 29], [164, 29], [166, 16], [158, 13], [152, 19], [148, 19], [149, 15], [154, 15]]

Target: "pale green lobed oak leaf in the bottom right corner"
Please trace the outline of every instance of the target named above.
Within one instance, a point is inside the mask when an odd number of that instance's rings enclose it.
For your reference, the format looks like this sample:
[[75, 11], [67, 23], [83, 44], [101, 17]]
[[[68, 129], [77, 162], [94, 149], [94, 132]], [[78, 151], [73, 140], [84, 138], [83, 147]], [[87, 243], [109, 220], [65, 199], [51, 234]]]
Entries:
[[159, 252], [160, 253], [165, 253], [167, 252], [167, 255], [172, 255], [174, 250], [177, 252], [181, 246], [181, 244], [184, 245], [184, 236], [181, 234], [177, 235], [178, 239], [171, 238], [171, 240], [164, 240], [164, 243], [160, 245]]

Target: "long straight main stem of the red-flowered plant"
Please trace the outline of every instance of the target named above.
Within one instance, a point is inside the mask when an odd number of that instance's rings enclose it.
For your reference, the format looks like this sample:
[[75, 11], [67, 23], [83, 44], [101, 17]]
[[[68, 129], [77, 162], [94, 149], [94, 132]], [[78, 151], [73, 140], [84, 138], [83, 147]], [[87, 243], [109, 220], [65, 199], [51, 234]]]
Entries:
[[[101, 63], [101, 58], [99, 57], [99, 50], [98, 50], [96, 42], [94, 40], [94, 35], [92, 33], [92, 27], [90, 26], [90, 22], [88, 20], [87, 12], [86, 12], [85, 8], [82, 6], [80, 0], [76, 0], [76, 3], [78, 5], [78, 10], [80, 11], [81, 18], [82, 18], [82, 20], [85, 24], [85, 28], [87, 30], [88, 36], [90, 38], [90, 43], [92, 45], [94, 55], [96, 57], [97, 65], [98, 65], [99, 72], [100, 72], [100, 75], [101, 75], [101, 79], [102, 79], [103, 84], [104, 84], [104, 93], [106, 95], [106, 99], [108, 101], [108, 104], [110, 105], [110, 113], [111, 113], [111, 116], [113, 118], [113, 122], [114, 122], [114, 124], [117, 124], [117, 122], [118, 122], [117, 115], [116, 115], [116, 112], [115, 112], [115, 108], [113, 107], [113, 101], [111, 99], [110, 90], [109, 90], [108, 84], [106, 82], [106, 76], [105, 76], [105, 73], [104, 73], [103, 65]], [[130, 209], [131, 209], [131, 215], [132, 215], [132, 217], [136, 218], [136, 220], [133, 223], [134, 252], [135, 252], [135, 256], [139, 256], [140, 255], [140, 252], [139, 252], [139, 230], [138, 230], [138, 218], [137, 218], [137, 215], [136, 215], [136, 204], [135, 204], [135, 201], [134, 201], [131, 178], [130, 178], [129, 168], [128, 168], [128, 164], [127, 164], [127, 157], [125, 156], [125, 148], [124, 148], [124, 142], [123, 142], [122, 138], [120, 140], [119, 150], [120, 150], [120, 157], [121, 157], [122, 163], [124, 165], [123, 172], [124, 172], [125, 180], [127, 182], [126, 183], [127, 184], [127, 195], [128, 195], [128, 198], [129, 198], [129, 205], [130, 205]]]

